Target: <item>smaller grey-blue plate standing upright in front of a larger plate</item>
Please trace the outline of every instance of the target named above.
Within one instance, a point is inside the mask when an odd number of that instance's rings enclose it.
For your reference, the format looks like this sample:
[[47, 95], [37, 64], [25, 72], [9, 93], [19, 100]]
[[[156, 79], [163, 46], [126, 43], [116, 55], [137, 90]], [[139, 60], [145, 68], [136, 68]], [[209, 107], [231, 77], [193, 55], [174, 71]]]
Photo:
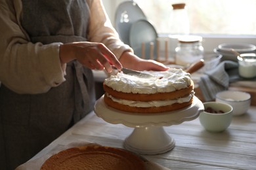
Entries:
[[154, 58], [156, 58], [156, 39], [158, 33], [156, 29], [147, 20], [138, 20], [131, 25], [129, 42], [137, 56], [142, 56], [141, 46], [142, 42], [145, 45], [145, 58], [150, 58], [150, 42], [154, 43]]

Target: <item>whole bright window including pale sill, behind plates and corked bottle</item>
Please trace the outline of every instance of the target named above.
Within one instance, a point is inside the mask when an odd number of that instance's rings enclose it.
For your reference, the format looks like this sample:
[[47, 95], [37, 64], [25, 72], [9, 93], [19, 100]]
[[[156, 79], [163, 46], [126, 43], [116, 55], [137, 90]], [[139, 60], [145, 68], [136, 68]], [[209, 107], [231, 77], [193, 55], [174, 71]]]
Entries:
[[[114, 24], [116, 8], [127, 0], [102, 0]], [[255, 0], [134, 0], [152, 22], [160, 37], [168, 36], [167, 23], [173, 3], [186, 3], [190, 33], [202, 35], [205, 52], [221, 43], [242, 42], [256, 45]]]

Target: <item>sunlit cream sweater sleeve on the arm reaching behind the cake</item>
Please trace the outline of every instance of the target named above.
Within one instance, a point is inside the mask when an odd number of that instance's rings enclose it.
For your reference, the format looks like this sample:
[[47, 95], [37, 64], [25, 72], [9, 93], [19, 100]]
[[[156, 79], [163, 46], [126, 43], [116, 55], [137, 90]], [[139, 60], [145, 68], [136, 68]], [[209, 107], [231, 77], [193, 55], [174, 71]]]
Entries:
[[125, 51], [133, 52], [133, 49], [120, 41], [119, 35], [108, 18], [101, 0], [87, 0], [90, 9], [89, 41], [102, 42], [117, 57]]

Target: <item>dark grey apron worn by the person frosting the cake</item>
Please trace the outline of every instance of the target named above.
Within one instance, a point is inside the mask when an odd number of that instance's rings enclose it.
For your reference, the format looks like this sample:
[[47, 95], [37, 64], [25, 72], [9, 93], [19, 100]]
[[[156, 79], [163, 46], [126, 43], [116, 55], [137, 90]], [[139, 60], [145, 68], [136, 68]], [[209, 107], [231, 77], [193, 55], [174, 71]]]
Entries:
[[[86, 41], [85, 0], [22, 0], [22, 26], [32, 42]], [[93, 74], [77, 61], [67, 64], [66, 81], [47, 93], [17, 94], [0, 88], [0, 165], [26, 162], [93, 110]]]

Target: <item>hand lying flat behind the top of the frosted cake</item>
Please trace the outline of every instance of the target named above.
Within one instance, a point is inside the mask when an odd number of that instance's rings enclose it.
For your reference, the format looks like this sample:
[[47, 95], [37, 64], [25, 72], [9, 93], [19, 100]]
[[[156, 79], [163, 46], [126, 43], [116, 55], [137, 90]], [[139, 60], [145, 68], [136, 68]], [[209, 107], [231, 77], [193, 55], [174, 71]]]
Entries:
[[132, 52], [124, 52], [119, 59], [123, 67], [128, 69], [134, 69], [137, 71], [166, 71], [169, 69], [163, 63], [154, 61], [152, 59], [142, 59], [135, 56]]

